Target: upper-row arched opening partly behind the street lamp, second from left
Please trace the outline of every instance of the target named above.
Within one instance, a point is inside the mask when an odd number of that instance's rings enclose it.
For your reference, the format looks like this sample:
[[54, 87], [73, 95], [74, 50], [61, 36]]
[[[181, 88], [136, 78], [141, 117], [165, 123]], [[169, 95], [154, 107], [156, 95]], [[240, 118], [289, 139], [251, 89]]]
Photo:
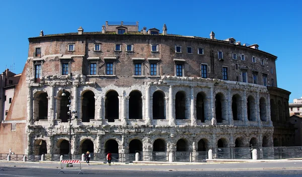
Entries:
[[70, 101], [70, 93], [67, 90], [64, 90], [65, 96], [62, 96], [62, 91], [59, 92], [59, 100], [60, 100], [60, 119], [62, 122], [68, 122], [69, 115], [68, 111], [69, 108], [67, 105]]

